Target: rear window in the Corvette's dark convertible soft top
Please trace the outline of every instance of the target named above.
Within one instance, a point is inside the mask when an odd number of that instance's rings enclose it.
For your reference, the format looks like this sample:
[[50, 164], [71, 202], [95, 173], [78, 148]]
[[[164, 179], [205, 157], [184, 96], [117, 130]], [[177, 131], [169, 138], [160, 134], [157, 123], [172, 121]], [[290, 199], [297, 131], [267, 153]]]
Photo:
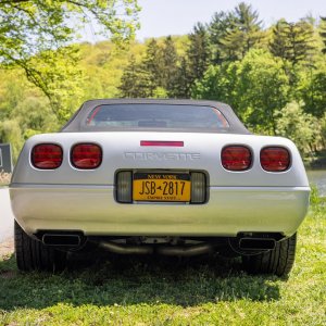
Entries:
[[86, 126], [99, 128], [227, 129], [224, 115], [212, 106], [173, 104], [108, 104], [95, 108]]

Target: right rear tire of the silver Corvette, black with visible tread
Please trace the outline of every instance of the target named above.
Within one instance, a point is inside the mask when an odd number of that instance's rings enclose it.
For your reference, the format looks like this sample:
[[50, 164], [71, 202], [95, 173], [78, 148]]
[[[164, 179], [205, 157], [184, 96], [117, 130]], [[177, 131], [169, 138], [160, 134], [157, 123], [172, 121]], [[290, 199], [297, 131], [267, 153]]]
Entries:
[[242, 266], [250, 274], [274, 274], [286, 277], [292, 269], [296, 256], [297, 234], [276, 242], [273, 250], [242, 255]]

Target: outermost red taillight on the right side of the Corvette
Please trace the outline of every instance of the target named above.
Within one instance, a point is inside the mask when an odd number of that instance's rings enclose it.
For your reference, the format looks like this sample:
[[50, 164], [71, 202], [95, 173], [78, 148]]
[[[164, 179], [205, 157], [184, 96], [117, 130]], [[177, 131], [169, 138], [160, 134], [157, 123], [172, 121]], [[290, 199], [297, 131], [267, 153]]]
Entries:
[[265, 147], [261, 150], [261, 165], [268, 172], [283, 172], [290, 166], [290, 153], [283, 147]]

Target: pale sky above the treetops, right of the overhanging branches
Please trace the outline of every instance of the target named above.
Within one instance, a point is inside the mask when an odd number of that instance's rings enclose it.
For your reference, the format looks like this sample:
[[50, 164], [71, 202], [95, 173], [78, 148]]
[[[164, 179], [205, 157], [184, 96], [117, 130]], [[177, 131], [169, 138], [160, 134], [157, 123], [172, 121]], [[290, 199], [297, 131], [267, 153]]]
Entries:
[[[230, 11], [241, 0], [138, 0], [142, 8], [139, 17], [141, 28], [137, 39], [191, 32], [197, 22], [209, 23], [215, 12]], [[244, 1], [259, 12], [264, 27], [279, 18], [297, 22], [312, 14], [326, 16], [326, 0], [250, 0]]]

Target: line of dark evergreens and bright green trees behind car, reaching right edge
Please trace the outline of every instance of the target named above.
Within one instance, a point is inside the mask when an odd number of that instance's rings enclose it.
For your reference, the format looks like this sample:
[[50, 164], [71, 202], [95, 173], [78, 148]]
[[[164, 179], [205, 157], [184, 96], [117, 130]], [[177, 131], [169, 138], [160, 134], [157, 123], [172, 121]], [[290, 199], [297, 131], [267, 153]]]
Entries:
[[127, 98], [225, 101], [253, 131], [292, 138], [302, 153], [325, 148], [326, 18], [263, 29], [244, 2], [198, 23], [178, 54], [171, 36], [151, 39], [121, 78]]

